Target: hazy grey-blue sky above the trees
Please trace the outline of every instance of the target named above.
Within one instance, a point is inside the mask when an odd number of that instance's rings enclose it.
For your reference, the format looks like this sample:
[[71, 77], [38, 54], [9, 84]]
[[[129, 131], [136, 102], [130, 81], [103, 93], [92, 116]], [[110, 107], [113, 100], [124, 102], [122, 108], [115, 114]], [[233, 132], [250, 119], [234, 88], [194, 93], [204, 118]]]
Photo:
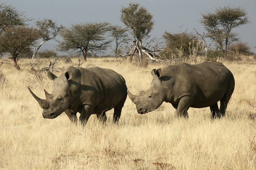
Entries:
[[[24, 11], [33, 19], [52, 18], [58, 24], [69, 27], [72, 23], [102, 22], [124, 26], [120, 21], [120, 9], [130, 2], [140, 3], [153, 14], [155, 25], [151, 37], [160, 38], [165, 31], [177, 33], [179, 27], [188, 32], [205, 31], [200, 24], [201, 13], [223, 6], [241, 6], [248, 12], [249, 24], [235, 28], [242, 42], [248, 42], [256, 52], [256, 0], [0, 0]], [[33, 22], [34, 23], [34, 22]], [[56, 42], [46, 42], [42, 49], [55, 49]], [[106, 54], [110, 53], [110, 50]]]

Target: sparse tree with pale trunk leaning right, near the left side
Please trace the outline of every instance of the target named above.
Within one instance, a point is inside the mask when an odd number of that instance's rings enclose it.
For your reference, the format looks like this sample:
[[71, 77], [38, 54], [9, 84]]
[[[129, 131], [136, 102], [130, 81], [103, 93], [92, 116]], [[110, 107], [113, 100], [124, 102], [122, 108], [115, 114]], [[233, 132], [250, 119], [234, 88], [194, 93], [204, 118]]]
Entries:
[[62, 25], [58, 26], [56, 22], [54, 22], [52, 19], [37, 20], [36, 26], [39, 38], [42, 39], [42, 41], [39, 44], [35, 45], [32, 58], [36, 56], [37, 51], [43, 45], [43, 43], [54, 39], [63, 29]]

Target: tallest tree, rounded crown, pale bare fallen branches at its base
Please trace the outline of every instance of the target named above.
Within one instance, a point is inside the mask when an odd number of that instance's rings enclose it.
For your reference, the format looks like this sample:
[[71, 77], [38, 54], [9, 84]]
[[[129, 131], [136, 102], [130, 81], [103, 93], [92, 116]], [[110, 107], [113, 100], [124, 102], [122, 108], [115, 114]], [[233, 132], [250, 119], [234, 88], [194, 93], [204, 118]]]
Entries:
[[142, 52], [145, 53], [150, 59], [154, 59], [153, 56], [158, 56], [156, 51], [149, 50], [142, 46], [143, 40], [149, 35], [153, 29], [153, 16], [144, 7], [139, 7], [138, 3], [129, 3], [129, 7], [122, 7], [121, 9], [121, 21], [129, 28], [134, 37], [134, 45], [129, 52], [130, 61], [134, 53], [138, 51], [140, 64], [142, 64]]

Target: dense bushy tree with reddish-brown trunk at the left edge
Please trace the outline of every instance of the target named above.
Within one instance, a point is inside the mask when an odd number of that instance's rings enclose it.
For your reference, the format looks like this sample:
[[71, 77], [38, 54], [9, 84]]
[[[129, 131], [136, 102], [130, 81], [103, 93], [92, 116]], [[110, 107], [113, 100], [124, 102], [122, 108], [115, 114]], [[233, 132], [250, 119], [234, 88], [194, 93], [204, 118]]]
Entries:
[[38, 39], [35, 29], [20, 26], [7, 28], [0, 35], [0, 52], [10, 53], [16, 69], [20, 69], [17, 61], [19, 54], [30, 51], [30, 47]]

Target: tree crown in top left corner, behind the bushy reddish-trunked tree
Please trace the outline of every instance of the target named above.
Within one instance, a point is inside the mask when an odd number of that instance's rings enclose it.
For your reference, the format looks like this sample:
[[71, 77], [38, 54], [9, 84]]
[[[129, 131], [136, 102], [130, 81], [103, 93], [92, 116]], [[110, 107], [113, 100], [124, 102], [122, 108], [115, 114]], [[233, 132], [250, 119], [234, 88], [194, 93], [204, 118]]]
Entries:
[[24, 12], [17, 11], [15, 7], [5, 3], [0, 4], [0, 34], [8, 28], [24, 26], [28, 20]]

